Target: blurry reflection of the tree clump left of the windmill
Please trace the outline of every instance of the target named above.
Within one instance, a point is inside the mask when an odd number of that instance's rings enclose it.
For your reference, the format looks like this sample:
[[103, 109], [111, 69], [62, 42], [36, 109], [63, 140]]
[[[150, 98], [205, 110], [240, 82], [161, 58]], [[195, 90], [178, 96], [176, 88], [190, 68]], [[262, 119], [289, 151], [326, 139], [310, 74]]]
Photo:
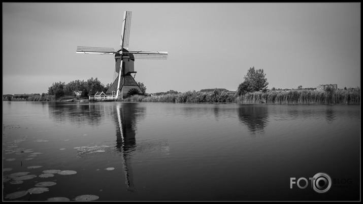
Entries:
[[98, 125], [101, 123], [104, 116], [104, 110], [98, 103], [50, 103], [49, 113], [57, 123], [70, 122], [78, 126], [81, 126], [84, 123]]

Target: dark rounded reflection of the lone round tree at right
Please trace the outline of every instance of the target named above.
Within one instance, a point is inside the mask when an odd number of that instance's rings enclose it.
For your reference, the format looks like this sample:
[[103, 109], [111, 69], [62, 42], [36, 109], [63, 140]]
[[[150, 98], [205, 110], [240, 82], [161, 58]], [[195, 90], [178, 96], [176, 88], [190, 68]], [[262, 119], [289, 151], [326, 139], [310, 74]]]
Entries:
[[263, 132], [268, 123], [268, 107], [256, 105], [242, 105], [238, 109], [238, 116], [242, 124], [251, 132]]

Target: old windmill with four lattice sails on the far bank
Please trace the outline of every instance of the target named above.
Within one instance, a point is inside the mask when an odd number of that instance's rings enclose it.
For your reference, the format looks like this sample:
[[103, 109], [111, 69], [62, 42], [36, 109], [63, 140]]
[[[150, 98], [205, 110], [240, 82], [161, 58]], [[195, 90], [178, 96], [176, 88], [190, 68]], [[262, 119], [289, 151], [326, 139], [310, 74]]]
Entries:
[[106, 91], [106, 98], [120, 99], [135, 94], [144, 94], [138, 83], [131, 74], [134, 71], [135, 59], [167, 59], [168, 52], [159, 51], [131, 51], [128, 50], [128, 40], [131, 26], [131, 11], [123, 14], [121, 30], [121, 49], [115, 51], [114, 48], [84, 47], [78, 46], [76, 53], [84, 54], [115, 54], [115, 72], [113, 82]]

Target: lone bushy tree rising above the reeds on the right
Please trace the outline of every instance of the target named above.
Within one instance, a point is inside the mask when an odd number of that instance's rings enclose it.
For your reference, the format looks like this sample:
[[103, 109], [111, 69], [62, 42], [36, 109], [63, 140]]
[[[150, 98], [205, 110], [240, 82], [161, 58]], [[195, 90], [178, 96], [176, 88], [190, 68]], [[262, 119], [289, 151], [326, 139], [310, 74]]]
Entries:
[[255, 70], [254, 66], [248, 70], [247, 75], [244, 77], [245, 81], [241, 83], [237, 88], [237, 95], [244, 94], [245, 92], [254, 91], [267, 91], [267, 79], [266, 74], [263, 73], [263, 69]]

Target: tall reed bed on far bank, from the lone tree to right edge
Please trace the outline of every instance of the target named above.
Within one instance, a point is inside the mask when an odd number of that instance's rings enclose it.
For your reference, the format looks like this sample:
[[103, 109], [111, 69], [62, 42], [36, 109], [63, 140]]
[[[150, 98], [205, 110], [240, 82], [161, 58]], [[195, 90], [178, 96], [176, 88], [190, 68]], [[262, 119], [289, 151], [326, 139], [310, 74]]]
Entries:
[[291, 90], [250, 92], [236, 97], [236, 103], [267, 104], [359, 104], [360, 89], [314, 91]]

